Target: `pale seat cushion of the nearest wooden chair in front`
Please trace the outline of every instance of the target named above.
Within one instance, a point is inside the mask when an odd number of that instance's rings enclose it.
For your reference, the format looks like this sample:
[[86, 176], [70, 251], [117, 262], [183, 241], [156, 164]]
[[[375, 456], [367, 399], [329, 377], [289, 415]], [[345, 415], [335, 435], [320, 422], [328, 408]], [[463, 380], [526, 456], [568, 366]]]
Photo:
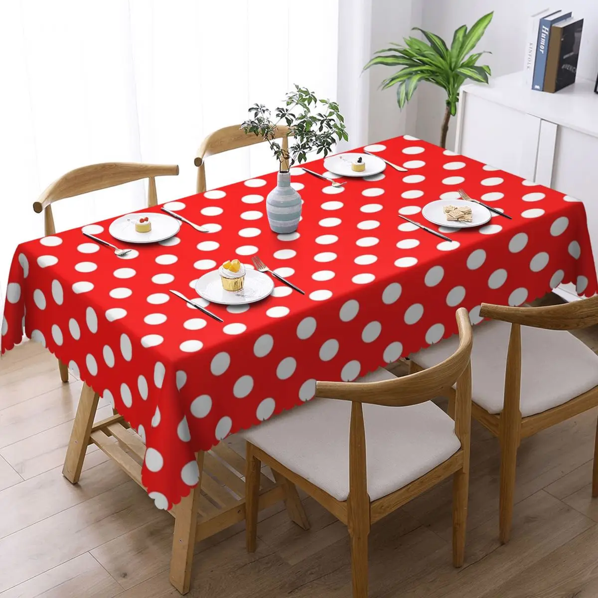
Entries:
[[[358, 382], [390, 380], [380, 368]], [[410, 407], [364, 404], [367, 480], [375, 501], [431, 471], [460, 448], [453, 420], [431, 401]], [[243, 437], [339, 501], [349, 496], [350, 401], [312, 399]]]

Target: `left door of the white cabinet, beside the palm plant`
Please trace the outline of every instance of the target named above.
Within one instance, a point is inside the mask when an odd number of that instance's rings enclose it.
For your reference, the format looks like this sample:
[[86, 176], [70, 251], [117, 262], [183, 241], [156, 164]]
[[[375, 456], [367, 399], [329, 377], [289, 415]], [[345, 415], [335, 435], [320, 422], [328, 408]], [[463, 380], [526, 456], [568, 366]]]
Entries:
[[533, 181], [540, 124], [532, 115], [462, 93], [456, 152]]

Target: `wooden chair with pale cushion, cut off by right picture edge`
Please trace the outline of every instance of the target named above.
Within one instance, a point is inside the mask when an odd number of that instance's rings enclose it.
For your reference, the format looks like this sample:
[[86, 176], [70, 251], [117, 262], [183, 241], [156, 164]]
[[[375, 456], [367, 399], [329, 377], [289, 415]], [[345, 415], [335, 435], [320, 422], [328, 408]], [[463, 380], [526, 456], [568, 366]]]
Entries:
[[[548, 307], [483, 303], [480, 315], [493, 321], [475, 327], [472, 416], [501, 443], [499, 532], [505, 544], [521, 438], [598, 405], [598, 356], [566, 332], [598, 324], [598, 296]], [[412, 355], [411, 371], [434, 367], [456, 343], [451, 337]], [[454, 391], [449, 395], [452, 404]], [[598, 496], [598, 431], [592, 496]]]

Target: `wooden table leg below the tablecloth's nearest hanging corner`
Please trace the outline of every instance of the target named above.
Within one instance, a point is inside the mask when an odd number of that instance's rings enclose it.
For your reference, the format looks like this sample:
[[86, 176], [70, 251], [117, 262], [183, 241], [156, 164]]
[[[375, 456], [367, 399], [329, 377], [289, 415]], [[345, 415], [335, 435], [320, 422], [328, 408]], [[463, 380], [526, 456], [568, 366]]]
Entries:
[[197, 453], [199, 482], [174, 508], [175, 533], [170, 555], [170, 583], [181, 593], [187, 594], [191, 586], [191, 565], [197, 533], [197, 511], [202, 495], [203, 451]]

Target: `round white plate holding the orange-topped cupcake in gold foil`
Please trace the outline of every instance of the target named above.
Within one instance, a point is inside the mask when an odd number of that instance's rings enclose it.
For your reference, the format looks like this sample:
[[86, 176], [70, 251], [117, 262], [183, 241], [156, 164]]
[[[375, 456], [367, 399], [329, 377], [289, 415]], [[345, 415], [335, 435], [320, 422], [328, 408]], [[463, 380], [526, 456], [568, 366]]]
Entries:
[[211, 303], [237, 305], [266, 298], [273, 291], [274, 282], [267, 274], [246, 268], [243, 288], [240, 291], [225, 291], [218, 270], [212, 270], [197, 280], [195, 289], [200, 297]]

